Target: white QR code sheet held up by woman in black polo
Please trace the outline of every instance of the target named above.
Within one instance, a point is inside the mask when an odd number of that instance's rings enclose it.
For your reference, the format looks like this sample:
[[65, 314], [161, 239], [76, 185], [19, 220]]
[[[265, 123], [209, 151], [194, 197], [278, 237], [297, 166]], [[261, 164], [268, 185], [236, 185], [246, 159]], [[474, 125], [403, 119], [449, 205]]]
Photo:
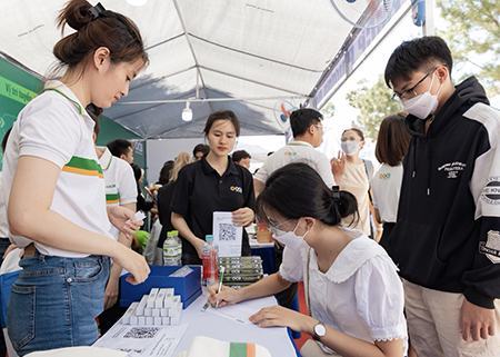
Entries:
[[231, 212], [213, 212], [213, 245], [219, 247], [219, 257], [241, 256], [243, 227], [232, 224]]

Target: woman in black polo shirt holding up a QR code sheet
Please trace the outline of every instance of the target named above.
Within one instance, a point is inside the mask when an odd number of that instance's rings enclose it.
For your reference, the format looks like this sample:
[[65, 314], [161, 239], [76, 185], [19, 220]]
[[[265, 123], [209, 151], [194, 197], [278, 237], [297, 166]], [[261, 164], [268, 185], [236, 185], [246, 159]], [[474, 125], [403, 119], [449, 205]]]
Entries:
[[[234, 225], [253, 221], [252, 176], [234, 165], [229, 152], [240, 135], [240, 122], [230, 111], [212, 112], [204, 126], [210, 152], [207, 158], [182, 168], [172, 198], [172, 225], [182, 238], [182, 264], [201, 264], [206, 235], [212, 234], [213, 212], [230, 211]], [[241, 255], [249, 256], [246, 229]]]

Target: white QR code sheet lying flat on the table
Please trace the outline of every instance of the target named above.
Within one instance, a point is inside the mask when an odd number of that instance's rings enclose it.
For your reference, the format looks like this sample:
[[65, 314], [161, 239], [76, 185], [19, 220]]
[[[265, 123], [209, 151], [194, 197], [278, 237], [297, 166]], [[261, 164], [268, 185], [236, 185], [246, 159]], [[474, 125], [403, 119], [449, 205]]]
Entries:
[[128, 357], [174, 357], [187, 328], [187, 324], [169, 327], [117, 324], [93, 346], [126, 351]]

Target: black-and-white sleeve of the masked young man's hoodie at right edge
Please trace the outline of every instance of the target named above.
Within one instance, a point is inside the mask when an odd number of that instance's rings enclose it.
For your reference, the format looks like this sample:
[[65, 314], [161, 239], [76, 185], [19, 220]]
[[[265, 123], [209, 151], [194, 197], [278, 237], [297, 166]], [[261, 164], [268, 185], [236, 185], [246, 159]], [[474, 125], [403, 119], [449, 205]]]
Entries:
[[[496, 116], [494, 116], [496, 113]], [[470, 189], [476, 201], [474, 219], [479, 224], [478, 246], [472, 267], [462, 275], [467, 300], [494, 308], [500, 298], [500, 113], [482, 118], [483, 138], [474, 162]]]

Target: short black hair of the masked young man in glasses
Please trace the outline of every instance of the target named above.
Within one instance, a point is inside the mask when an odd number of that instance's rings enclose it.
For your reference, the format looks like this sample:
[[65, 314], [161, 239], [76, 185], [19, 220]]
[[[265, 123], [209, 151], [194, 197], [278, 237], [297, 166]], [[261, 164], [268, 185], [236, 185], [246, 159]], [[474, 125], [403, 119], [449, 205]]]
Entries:
[[437, 36], [427, 36], [404, 41], [396, 48], [386, 66], [386, 85], [391, 88], [394, 80], [408, 80], [418, 70], [430, 70], [432, 66], [441, 63], [451, 73], [453, 59], [444, 40]]

